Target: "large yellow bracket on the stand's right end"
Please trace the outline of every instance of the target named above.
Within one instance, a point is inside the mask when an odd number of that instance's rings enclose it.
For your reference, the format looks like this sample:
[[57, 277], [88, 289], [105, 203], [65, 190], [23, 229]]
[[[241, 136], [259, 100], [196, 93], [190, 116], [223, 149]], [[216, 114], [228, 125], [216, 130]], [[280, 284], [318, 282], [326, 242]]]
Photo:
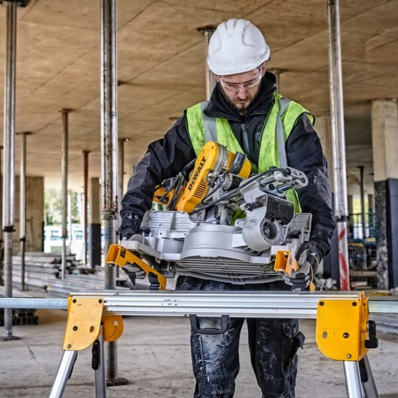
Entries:
[[359, 361], [369, 341], [368, 300], [364, 292], [353, 300], [322, 300], [317, 305], [316, 338], [324, 355], [336, 361]]

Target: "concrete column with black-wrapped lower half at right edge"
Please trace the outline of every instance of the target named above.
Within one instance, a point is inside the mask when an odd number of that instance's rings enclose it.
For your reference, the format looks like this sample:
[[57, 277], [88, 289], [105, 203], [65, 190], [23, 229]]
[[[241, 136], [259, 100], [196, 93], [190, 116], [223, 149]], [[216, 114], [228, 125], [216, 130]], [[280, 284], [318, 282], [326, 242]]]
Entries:
[[398, 286], [398, 108], [397, 99], [374, 101], [371, 110], [376, 203], [378, 288]]

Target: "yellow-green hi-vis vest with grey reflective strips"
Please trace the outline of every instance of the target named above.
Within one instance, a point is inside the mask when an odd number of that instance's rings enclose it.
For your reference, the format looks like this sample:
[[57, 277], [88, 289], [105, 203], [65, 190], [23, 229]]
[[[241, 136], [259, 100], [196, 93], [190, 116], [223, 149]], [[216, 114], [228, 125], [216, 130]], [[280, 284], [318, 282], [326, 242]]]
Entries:
[[[274, 97], [275, 102], [261, 132], [259, 164], [257, 165], [259, 173], [268, 170], [271, 166], [286, 167], [287, 156], [284, 144], [293, 130], [297, 118], [301, 114], [307, 114], [311, 123], [314, 121], [313, 115], [300, 104], [277, 93], [274, 94]], [[196, 156], [209, 141], [218, 142], [233, 153], [244, 153], [227, 119], [209, 118], [204, 114], [207, 104], [209, 104], [208, 101], [201, 102], [186, 109], [188, 134]], [[287, 199], [294, 203], [297, 213], [301, 212], [296, 190], [288, 191]]]

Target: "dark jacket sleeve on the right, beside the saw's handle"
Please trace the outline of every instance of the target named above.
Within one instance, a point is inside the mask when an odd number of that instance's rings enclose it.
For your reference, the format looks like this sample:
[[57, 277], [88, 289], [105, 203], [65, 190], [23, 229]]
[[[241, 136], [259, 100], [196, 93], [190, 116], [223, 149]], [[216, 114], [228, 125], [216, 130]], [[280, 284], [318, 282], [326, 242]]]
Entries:
[[320, 139], [308, 116], [303, 114], [296, 122], [286, 142], [287, 163], [304, 172], [308, 185], [297, 190], [303, 212], [313, 214], [310, 240], [330, 252], [330, 239], [336, 224], [331, 210], [331, 188]]

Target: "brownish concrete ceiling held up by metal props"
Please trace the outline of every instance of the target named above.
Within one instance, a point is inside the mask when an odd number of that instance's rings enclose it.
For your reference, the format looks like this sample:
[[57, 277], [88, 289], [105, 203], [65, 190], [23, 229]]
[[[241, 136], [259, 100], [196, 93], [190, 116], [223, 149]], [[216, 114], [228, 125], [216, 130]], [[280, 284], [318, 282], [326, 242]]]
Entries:
[[[247, 18], [266, 36], [280, 92], [329, 114], [326, 0], [118, 0], [118, 129], [130, 175], [147, 144], [205, 99], [205, 41], [196, 27]], [[0, 60], [6, 7], [0, 6]], [[398, 97], [398, 0], [341, 1], [348, 174], [371, 183], [371, 101]], [[32, 0], [18, 10], [16, 131], [29, 131], [27, 173], [60, 187], [61, 108], [69, 114], [69, 188], [81, 191], [82, 151], [100, 176], [99, 0]], [[0, 62], [4, 76], [4, 62]], [[4, 78], [0, 79], [3, 119]], [[2, 132], [1, 132], [2, 133]], [[18, 174], [20, 139], [16, 138]]]

